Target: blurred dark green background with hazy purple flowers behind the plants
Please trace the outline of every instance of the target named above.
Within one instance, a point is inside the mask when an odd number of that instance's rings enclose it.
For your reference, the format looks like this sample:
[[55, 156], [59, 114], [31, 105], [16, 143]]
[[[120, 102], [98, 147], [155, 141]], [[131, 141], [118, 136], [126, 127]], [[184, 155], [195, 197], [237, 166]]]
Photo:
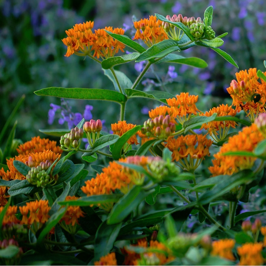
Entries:
[[[214, 7], [212, 27], [216, 35], [228, 32], [221, 48], [233, 57], [239, 69], [263, 70], [266, 59], [264, 0], [0, 0], [0, 127], [25, 94], [25, 101], [14, 118], [18, 121], [16, 138], [25, 142], [37, 135], [47, 137], [38, 130], [67, 128], [67, 124], [58, 125], [58, 119], [48, 124], [50, 103], [60, 105], [60, 98], [40, 97], [33, 93], [35, 90], [52, 86], [113, 89], [99, 64], [89, 58], [64, 56], [66, 46], [61, 39], [66, 37], [65, 30], [74, 24], [91, 20], [94, 29], [124, 27], [125, 34], [133, 37], [134, 20], [154, 13], [203, 18], [209, 5]], [[137, 89], [167, 90], [174, 95], [182, 91], [198, 94], [198, 108], [202, 111], [221, 103], [230, 104], [225, 89], [239, 70], [204, 47], [192, 47], [181, 54], [201, 57], [209, 66], [197, 69], [176, 64], [174, 71], [178, 75], [169, 79], [166, 76], [169, 64], [156, 65], [145, 75], [146, 84], [140, 84]], [[138, 75], [134, 63], [123, 65], [120, 70], [133, 82]], [[161, 83], [168, 82], [160, 86], [158, 79]], [[111, 129], [110, 123], [119, 119], [119, 105], [115, 103], [69, 100], [69, 104], [73, 112], [80, 113], [86, 104], [92, 105], [93, 119], [104, 119], [108, 129]], [[158, 105], [160, 103], [153, 100], [131, 99], [127, 105], [127, 122], [142, 124], [148, 117], [147, 110]]]

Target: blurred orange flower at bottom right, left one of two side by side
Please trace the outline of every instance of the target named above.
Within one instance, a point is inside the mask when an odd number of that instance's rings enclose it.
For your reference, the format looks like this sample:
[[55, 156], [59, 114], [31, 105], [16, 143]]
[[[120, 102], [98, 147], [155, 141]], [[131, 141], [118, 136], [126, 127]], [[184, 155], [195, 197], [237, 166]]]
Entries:
[[234, 239], [220, 239], [213, 241], [213, 250], [211, 254], [213, 256], [219, 256], [229, 260], [235, 260], [232, 253], [232, 249], [235, 246], [236, 241]]

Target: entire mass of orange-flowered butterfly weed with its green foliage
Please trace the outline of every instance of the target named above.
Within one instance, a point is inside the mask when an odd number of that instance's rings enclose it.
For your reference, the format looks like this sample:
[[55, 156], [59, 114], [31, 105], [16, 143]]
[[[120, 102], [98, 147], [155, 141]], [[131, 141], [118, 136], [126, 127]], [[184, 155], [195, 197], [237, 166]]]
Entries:
[[[231, 106], [220, 104], [209, 111], [199, 110], [199, 95], [189, 92], [138, 90], [153, 64], [207, 67], [200, 58], [181, 55], [193, 46], [212, 49], [237, 67], [218, 48], [227, 33], [216, 36], [212, 16], [211, 6], [203, 19], [155, 14], [134, 22], [133, 39], [121, 28], [95, 30], [92, 21], [66, 31], [65, 56], [89, 57], [91, 67], [101, 64], [114, 87], [50, 87], [35, 94], [115, 102], [120, 120], [113, 121], [110, 134], [102, 118], [92, 119], [92, 106], [86, 106], [86, 121], [77, 113], [67, 116], [63, 100], [64, 121], [70, 129], [41, 130], [60, 137], [59, 145], [33, 137], [17, 147], [14, 157], [9, 152], [12, 129], [1, 153], [1, 264], [265, 263], [266, 225], [252, 216], [266, 210], [236, 214], [239, 202], [249, 201], [249, 190], [264, 184], [265, 72], [251, 68], [236, 73], [227, 88]], [[125, 54], [125, 47], [134, 52]], [[114, 69], [143, 61], [134, 82]], [[149, 119], [142, 124], [131, 124], [124, 120], [131, 98], [155, 100], [158, 107], [149, 111]], [[54, 115], [59, 106], [52, 108]], [[238, 113], [244, 113], [244, 119]], [[81, 154], [78, 164], [71, 160], [76, 153]], [[202, 166], [208, 156], [213, 158], [211, 164]], [[202, 176], [199, 167], [208, 168]], [[157, 197], [162, 195], [176, 195], [179, 201], [160, 208]], [[221, 204], [228, 206], [228, 219], [213, 212]], [[202, 227], [186, 232], [183, 225], [192, 215]]]

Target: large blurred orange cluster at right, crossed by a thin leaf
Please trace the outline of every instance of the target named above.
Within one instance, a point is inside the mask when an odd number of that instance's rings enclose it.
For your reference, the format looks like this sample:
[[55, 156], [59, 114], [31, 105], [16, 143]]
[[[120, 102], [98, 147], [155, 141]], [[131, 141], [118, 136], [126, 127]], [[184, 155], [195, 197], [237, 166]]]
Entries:
[[237, 135], [230, 137], [228, 142], [223, 144], [220, 151], [214, 155], [215, 160], [213, 160], [213, 166], [209, 167], [210, 172], [213, 176], [231, 175], [240, 170], [251, 168], [257, 159], [256, 157], [223, 155], [223, 153], [230, 151], [252, 152], [262, 140], [264, 137], [256, 124], [244, 127]]

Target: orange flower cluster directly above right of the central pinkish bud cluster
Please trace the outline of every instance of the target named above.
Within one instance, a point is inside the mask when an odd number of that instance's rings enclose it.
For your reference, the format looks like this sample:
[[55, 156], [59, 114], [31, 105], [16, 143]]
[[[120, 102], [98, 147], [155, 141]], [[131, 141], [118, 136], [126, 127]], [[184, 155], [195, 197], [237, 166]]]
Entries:
[[[176, 119], [183, 124], [192, 114], [196, 114], [199, 110], [196, 107], [196, 102], [199, 96], [189, 95], [189, 93], [180, 93], [176, 98], [167, 99], [166, 102], [170, 107], [173, 107], [171, 113]], [[188, 115], [188, 117], [186, 117]]]

